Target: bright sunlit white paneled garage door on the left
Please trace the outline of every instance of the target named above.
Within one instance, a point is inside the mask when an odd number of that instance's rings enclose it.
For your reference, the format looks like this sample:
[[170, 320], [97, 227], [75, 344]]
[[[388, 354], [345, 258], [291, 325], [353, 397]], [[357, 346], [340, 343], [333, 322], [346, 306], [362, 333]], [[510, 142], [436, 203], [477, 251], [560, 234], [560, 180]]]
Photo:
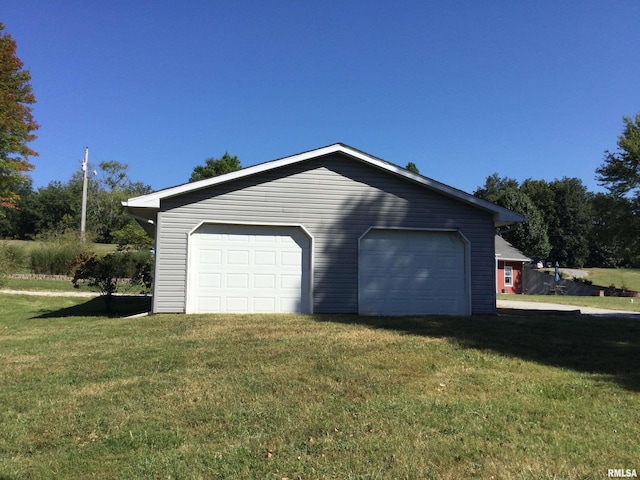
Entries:
[[189, 242], [187, 312], [310, 311], [310, 240], [302, 229], [211, 224]]

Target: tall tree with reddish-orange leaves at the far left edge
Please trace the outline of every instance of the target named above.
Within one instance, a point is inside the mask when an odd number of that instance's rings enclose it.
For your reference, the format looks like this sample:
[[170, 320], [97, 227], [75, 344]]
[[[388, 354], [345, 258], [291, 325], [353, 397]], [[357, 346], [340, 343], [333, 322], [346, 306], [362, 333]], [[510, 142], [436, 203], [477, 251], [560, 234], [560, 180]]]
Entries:
[[31, 74], [16, 56], [15, 40], [3, 30], [0, 23], [0, 206], [15, 208], [26, 173], [33, 170], [29, 157], [38, 155], [27, 144], [39, 125], [32, 114]]

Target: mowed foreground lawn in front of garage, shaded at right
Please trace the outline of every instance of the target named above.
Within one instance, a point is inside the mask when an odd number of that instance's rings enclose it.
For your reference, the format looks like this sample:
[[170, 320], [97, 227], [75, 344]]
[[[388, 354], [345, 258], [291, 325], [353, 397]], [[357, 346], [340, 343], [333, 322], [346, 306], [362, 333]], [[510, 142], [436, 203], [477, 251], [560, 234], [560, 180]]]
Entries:
[[640, 469], [640, 322], [155, 315], [0, 296], [0, 478]]

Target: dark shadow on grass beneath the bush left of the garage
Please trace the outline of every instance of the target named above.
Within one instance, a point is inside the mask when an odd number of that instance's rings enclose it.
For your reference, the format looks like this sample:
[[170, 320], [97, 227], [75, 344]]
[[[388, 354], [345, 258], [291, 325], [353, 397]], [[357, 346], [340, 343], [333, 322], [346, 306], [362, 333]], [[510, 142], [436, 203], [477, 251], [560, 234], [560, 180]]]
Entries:
[[[128, 317], [151, 310], [151, 297], [140, 295], [117, 295], [113, 297], [111, 312], [107, 313], [104, 301], [100, 297], [92, 298], [85, 303], [60, 310], [47, 311], [33, 318], [60, 317]], [[2, 480], [2, 479], [0, 479]]]

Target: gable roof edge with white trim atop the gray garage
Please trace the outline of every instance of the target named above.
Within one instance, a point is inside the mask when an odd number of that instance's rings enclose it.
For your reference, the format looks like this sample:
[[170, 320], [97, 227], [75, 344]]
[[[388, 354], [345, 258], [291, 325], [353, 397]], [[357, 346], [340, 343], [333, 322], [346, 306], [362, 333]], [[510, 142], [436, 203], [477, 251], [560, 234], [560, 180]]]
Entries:
[[453, 199], [473, 205], [480, 210], [492, 213], [494, 215], [494, 223], [496, 224], [496, 226], [510, 225], [512, 223], [524, 221], [524, 217], [518, 213], [512, 212], [511, 210], [507, 210], [506, 208], [499, 207], [498, 205], [494, 205], [493, 203], [474, 197], [469, 193], [450, 187], [448, 185], [445, 185], [444, 183], [437, 182], [436, 180], [433, 180], [431, 178], [415, 174], [402, 167], [399, 167], [398, 165], [389, 163], [385, 160], [374, 157], [373, 155], [369, 155], [368, 153], [362, 152], [343, 143], [335, 143], [333, 145], [318, 148], [315, 150], [309, 150], [307, 152], [298, 153], [290, 157], [284, 157], [278, 160], [261, 163], [252, 167], [243, 168], [242, 170], [219, 175], [217, 177], [165, 188], [153, 193], [130, 198], [128, 201], [122, 202], [122, 205], [134, 217], [137, 217], [138, 219], [140, 219], [139, 217], [143, 217], [148, 221], [151, 220], [149, 215], [149, 213], [151, 212], [149, 210], [153, 211], [153, 217], [155, 217], [155, 212], [160, 208], [160, 203], [164, 199], [335, 153], [351, 157], [360, 162], [389, 172], [392, 175], [403, 177], [429, 190], [436, 191]]

